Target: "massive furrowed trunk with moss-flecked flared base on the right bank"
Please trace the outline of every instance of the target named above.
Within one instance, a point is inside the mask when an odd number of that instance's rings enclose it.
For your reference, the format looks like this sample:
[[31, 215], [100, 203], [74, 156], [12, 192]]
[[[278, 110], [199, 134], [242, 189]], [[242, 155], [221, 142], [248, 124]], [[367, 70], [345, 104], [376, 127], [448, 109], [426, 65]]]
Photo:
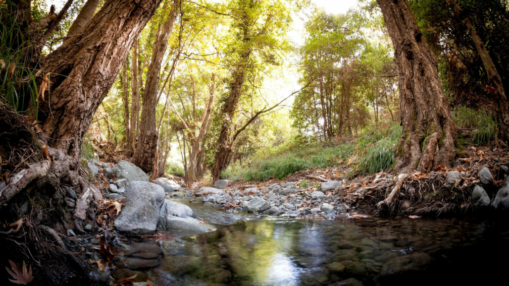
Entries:
[[440, 84], [435, 55], [404, 0], [377, 2], [398, 69], [403, 134], [395, 169], [400, 173], [413, 169], [427, 172], [433, 166], [450, 166], [456, 155], [458, 128]]

